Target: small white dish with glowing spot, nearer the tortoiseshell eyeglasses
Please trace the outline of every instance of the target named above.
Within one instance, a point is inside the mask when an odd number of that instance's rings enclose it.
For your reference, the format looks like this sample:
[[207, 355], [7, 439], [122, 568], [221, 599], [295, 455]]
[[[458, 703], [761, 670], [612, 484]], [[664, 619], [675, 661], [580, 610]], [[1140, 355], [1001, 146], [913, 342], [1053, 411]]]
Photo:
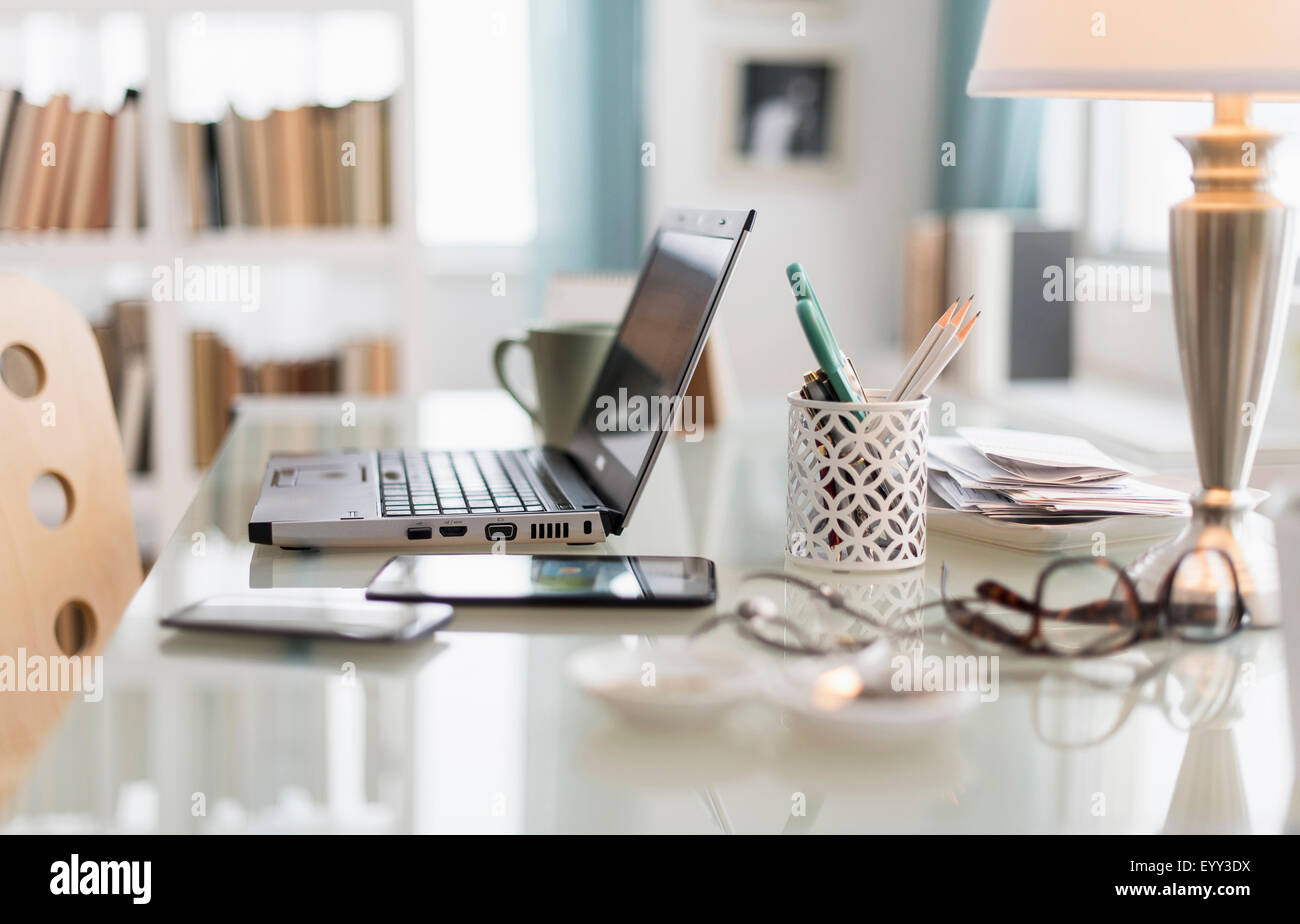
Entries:
[[872, 645], [854, 658], [794, 661], [768, 674], [763, 693], [802, 733], [870, 745], [931, 739], [979, 702], [974, 691], [894, 693], [892, 654], [887, 645]]

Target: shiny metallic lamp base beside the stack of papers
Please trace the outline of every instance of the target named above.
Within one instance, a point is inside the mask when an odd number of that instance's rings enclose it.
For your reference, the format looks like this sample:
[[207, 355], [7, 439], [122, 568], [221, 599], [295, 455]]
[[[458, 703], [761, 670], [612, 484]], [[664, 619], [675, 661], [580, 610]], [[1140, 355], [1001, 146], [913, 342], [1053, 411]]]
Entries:
[[[1249, 125], [1248, 96], [1214, 97], [1214, 125], [1178, 140], [1195, 195], [1169, 216], [1174, 322], [1204, 491], [1183, 534], [1131, 568], [1154, 593], [1187, 548], [1222, 548], [1254, 625], [1279, 619], [1271, 529], [1245, 490], [1278, 372], [1295, 281], [1295, 221], [1268, 190], [1273, 133]], [[1261, 534], [1262, 533], [1262, 534]]]

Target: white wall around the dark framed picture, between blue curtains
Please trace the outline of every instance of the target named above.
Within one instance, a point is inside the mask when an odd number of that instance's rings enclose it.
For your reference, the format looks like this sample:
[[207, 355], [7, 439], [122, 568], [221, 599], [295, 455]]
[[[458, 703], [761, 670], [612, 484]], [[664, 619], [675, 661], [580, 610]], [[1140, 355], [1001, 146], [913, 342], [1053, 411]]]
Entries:
[[[794, 320], [785, 266], [800, 261], [850, 356], [896, 340], [907, 221], [928, 207], [939, 157], [937, 0], [807, 5], [807, 35], [789, 8], [722, 0], [646, 4], [647, 220], [664, 208], [755, 208], [722, 322], [744, 391], [789, 391], [815, 363]], [[831, 51], [850, 64], [846, 164], [838, 181], [724, 166], [728, 65], [737, 52]], [[862, 368], [863, 379], [871, 370]], [[866, 381], [871, 386], [872, 381]], [[884, 383], [884, 382], [875, 382]]]

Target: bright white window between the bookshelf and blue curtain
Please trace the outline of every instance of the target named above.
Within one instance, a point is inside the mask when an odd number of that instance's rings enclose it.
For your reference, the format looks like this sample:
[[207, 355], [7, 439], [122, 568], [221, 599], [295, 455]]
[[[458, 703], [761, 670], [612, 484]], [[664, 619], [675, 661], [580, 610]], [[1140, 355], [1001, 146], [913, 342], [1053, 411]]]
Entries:
[[416, 225], [432, 244], [537, 233], [526, 0], [416, 4]]

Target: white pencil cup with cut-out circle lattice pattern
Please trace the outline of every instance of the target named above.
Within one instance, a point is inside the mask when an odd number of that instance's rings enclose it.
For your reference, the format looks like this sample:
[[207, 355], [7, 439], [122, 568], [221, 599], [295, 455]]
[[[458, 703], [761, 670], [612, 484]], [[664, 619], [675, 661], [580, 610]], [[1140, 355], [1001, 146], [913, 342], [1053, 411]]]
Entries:
[[[930, 398], [866, 404], [789, 395], [785, 559], [829, 571], [926, 561]], [[859, 418], [861, 415], [861, 418]]]

